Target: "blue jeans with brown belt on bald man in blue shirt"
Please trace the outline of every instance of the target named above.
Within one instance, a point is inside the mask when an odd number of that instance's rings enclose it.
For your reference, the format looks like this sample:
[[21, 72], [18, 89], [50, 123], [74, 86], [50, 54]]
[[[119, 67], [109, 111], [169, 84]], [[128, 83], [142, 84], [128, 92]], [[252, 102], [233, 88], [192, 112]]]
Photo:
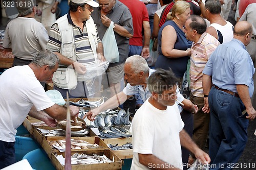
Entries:
[[[247, 142], [249, 120], [242, 115], [245, 106], [240, 98], [212, 87], [210, 106], [209, 156], [214, 169], [231, 169], [242, 155]], [[212, 169], [212, 168], [210, 168]]]

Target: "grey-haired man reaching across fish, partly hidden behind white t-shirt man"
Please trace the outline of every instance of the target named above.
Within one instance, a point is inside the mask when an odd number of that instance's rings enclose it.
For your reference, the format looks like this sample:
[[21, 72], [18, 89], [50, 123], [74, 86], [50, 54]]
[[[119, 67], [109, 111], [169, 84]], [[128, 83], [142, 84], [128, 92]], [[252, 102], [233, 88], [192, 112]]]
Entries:
[[[147, 88], [147, 79], [156, 70], [150, 69], [143, 57], [134, 55], [127, 58], [123, 66], [123, 70], [124, 80], [127, 81], [127, 85], [123, 91], [114, 95], [99, 107], [90, 110], [86, 115], [84, 115], [83, 118], [87, 116], [89, 120], [93, 121], [94, 117], [101, 111], [116, 108], [117, 106], [123, 104], [127, 99], [131, 98], [131, 96], [134, 94], [141, 96], [143, 103], [151, 96], [151, 92]], [[177, 89], [177, 100], [182, 102], [184, 105], [179, 107], [180, 112], [183, 109], [193, 113], [197, 112], [197, 105], [193, 105], [193, 103], [191, 103], [189, 100], [184, 99], [183, 95], [180, 94], [179, 89]], [[177, 102], [177, 104], [179, 103]]]

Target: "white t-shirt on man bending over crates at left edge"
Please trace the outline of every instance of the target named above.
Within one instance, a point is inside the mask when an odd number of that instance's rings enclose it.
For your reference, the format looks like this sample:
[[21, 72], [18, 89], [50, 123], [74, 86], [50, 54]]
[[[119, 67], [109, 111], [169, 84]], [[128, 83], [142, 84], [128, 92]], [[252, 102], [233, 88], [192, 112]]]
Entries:
[[15, 66], [0, 76], [0, 140], [15, 141], [16, 128], [32, 105], [44, 110], [54, 105], [28, 66]]

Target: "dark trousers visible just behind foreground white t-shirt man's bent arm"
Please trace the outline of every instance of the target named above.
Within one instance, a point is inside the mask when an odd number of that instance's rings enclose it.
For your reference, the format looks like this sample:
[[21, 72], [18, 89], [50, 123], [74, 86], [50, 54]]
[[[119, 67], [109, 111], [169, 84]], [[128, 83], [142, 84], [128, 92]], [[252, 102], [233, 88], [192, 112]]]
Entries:
[[[181, 119], [184, 122], [184, 130], [188, 133], [190, 137], [192, 137], [193, 134], [193, 114], [190, 112], [183, 110], [181, 112]], [[187, 162], [189, 157], [189, 151], [183, 147], [181, 147], [181, 156], [182, 156], [182, 162], [184, 164], [183, 170], [187, 169]]]

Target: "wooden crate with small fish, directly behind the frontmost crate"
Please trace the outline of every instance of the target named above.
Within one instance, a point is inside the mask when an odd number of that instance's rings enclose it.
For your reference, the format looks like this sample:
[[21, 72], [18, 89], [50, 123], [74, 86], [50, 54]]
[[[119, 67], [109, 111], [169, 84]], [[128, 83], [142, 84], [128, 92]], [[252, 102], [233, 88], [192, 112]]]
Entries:
[[[48, 156], [51, 152], [65, 152], [65, 137], [61, 136], [46, 136], [42, 139], [42, 148], [46, 151]], [[108, 148], [108, 146], [96, 137], [71, 137], [71, 151], [95, 150]]]

